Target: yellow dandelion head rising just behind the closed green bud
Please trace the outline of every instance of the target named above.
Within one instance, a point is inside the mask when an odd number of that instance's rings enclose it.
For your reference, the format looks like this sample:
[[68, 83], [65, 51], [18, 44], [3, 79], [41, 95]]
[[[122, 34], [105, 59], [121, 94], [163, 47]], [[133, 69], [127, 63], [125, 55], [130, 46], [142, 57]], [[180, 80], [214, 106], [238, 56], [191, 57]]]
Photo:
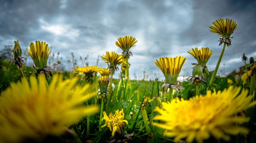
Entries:
[[[208, 60], [210, 59], [210, 57], [212, 56], [212, 50], [210, 51], [209, 48], [195, 48], [187, 51], [189, 54], [191, 54], [191, 56], [194, 56], [194, 58], [197, 60], [198, 64], [197, 65], [201, 65], [203, 68], [203, 72], [204, 73], [208, 73], [209, 71], [207, 69], [206, 63], [208, 62]], [[195, 65], [195, 64], [193, 64]]]

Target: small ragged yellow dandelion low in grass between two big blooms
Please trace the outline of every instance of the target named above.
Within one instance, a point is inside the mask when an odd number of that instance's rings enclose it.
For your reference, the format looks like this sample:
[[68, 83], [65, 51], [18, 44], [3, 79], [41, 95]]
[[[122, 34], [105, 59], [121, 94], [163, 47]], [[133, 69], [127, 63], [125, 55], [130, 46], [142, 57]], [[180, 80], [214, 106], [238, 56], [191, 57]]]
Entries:
[[101, 127], [108, 126], [109, 130], [112, 132], [112, 136], [114, 136], [117, 133], [121, 136], [123, 136], [125, 134], [124, 122], [126, 124], [128, 124], [128, 121], [123, 119], [124, 118], [123, 109], [121, 109], [121, 111], [115, 110], [115, 115], [113, 115], [110, 112], [109, 116], [107, 116], [106, 112], [104, 111], [103, 115], [104, 115], [104, 117], [101, 120], [102, 121], [105, 120], [105, 125], [103, 125]]

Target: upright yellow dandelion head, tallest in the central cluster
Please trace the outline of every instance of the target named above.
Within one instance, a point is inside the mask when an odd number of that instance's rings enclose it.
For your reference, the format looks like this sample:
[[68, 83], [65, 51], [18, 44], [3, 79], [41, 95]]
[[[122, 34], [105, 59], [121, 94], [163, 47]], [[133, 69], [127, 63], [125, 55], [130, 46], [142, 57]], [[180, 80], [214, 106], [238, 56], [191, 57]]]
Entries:
[[130, 52], [130, 48], [136, 46], [135, 44], [137, 41], [132, 36], [125, 36], [117, 38], [118, 41], [116, 41], [116, 45], [123, 50], [122, 56], [124, 58], [129, 58], [131, 55], [133, 56], [132, 52]]

